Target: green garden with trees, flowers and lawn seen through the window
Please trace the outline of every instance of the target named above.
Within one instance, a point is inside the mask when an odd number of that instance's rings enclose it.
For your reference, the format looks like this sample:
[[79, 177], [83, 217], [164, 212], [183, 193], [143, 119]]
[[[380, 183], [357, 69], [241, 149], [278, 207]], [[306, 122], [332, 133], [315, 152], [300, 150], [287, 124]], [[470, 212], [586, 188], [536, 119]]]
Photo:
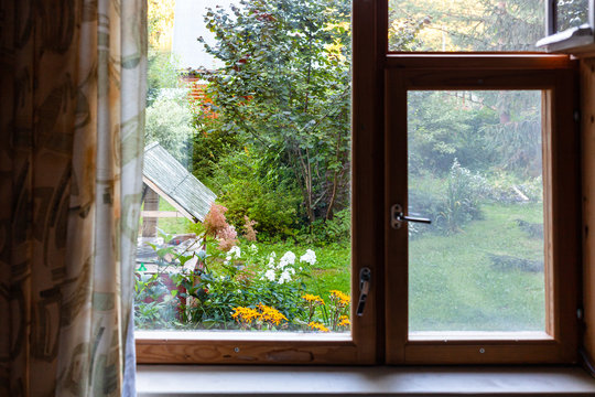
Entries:
[[[161, 218], [144, 244], [153, 259], [138, 259], [137, 329], [349, 331], [349, 8], [213, 8], [212, 69], [180, 71], [150, 46], [145, 140], [217, 198], [204, 222]], [[149, 11], [151, 42], [164, 11]], [[398, 11], [391, 46], [423, 49], [431, 19]], [[199, 100], [188, 99], [190, 77]], [[408, 100], [408, 212], [432, 219], [409, 225], [410, 331], [542, 330], [541, 94]]]

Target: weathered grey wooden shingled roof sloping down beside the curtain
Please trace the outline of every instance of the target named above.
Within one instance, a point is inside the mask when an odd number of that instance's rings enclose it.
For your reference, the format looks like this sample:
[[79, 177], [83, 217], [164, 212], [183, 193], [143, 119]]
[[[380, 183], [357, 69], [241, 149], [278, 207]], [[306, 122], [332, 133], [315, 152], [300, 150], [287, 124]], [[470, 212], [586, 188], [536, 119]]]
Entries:
[[203, 222], [217, 198], [159, 142], [144, 148], [142, 181], [193, 222]]

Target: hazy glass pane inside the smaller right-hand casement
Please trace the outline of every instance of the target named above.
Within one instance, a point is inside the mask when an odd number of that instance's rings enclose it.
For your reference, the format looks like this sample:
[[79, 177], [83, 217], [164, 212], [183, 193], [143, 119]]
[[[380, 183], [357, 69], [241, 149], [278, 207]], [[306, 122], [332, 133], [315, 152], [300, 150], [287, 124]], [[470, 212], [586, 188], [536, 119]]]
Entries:
[[545, 332], [541, 92], [408, 94], [409, 332]]

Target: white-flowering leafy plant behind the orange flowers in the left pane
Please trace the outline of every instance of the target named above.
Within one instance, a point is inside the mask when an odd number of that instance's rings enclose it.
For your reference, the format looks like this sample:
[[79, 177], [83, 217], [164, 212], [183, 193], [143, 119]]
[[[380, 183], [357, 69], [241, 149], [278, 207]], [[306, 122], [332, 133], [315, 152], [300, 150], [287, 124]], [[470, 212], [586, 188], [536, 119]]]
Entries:
[[302, 296], [317, 260], [313, 249], [267, 253], [242, 242], [223, 251], [216, 244], [206, 245], [208, 260], [205, 256], [199, 264], [199, 277], [181, 282], [186, 289], [182, 296], [190, 298], [183, 308], [186, 328], [234, 328], [234, 308], [264, 304], [289, 320], [285, 328], [303, 329]]

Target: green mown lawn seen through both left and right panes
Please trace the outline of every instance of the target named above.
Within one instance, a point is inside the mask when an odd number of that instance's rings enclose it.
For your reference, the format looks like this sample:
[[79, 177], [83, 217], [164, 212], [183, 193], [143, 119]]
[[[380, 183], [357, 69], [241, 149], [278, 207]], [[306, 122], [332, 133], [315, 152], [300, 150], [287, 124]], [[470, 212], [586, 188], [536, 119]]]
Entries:
[[[161, 210], [172, 210], [167, 203]], [[425, 233], [410, 242], [411, 331], [534, 331], [544, 329], [543, 272], [499, 268], [494, 256], [543, 260], [543, 242], [522, 230], [517, 219], [541, 223], [541, 204], [482, 206], [483, 219], [461, 233]], [[188, 229], [187, 219], [160, 219], [167, 233]], [[244, 251], [251, 243], [241, 243]], [[350, 291], [350, 247], [316, 248], [294, 243], [256, 243], [258, 266], [274, 251], [298, 258], [312, 248], [317, 261], [306, 290], [324, 299], [329, 290]]]

